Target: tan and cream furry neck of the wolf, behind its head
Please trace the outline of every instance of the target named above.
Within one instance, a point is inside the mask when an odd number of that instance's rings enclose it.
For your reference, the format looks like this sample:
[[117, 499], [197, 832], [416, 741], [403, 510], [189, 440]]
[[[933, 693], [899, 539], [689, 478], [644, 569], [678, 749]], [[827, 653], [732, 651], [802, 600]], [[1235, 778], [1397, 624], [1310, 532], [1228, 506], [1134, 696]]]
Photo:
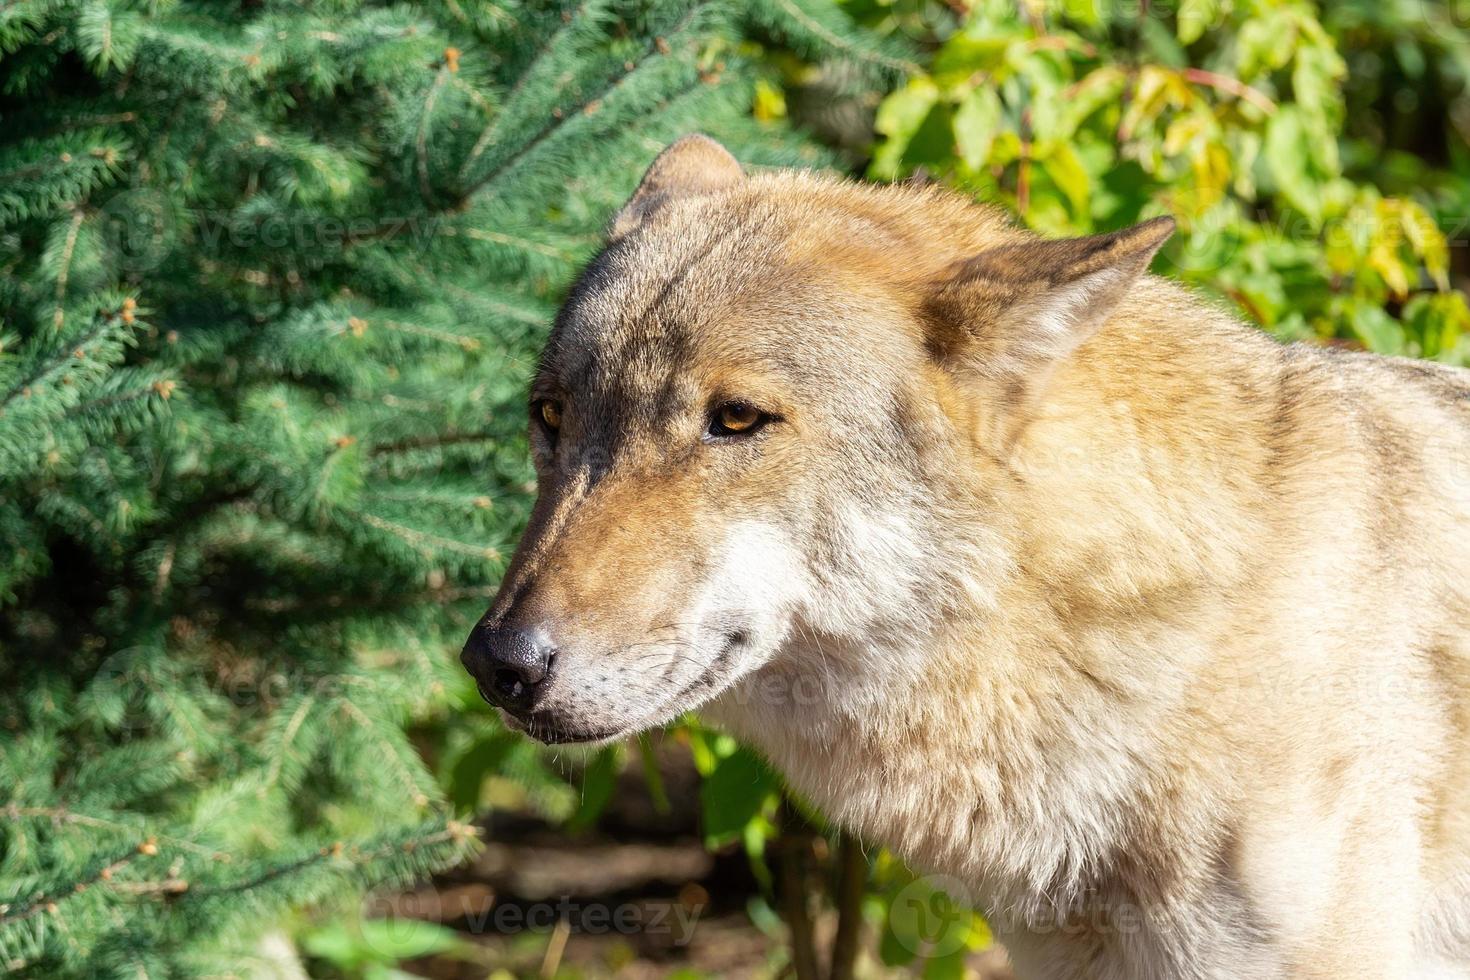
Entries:
[[[1177, 357], [1163, 363], [1150, 334], [1135, 325], [1080, 351], [1010, 472], [976, 475], [992, 514], [1010, 516], [988, 529], [1008, 560], [991, 601], [917, 638], [792, 649], [711, 711], [831, 818], [991, 905], [1147, 889], [1117, 879], [1160, 837], [1139, 814], [1180, 785], [1167, 765], [1217, 765], [1191, 782], [1226, 792], [1226, 760], [1169, 746], [1211, 710], [1191, 698], [1222, 629], [1200, 610], [1220, 604], [1197, 599], [1250, 574], [1242, 555], [1260, 529], [1245, 514], [1267, 448], [1260, 432], [1189, 426], [1242, 417], [1200, 401], [1250, 401], [1264, 382], [1245, 367], [1230, 379], [1232, 329], [1208, 357], [1182, 350], [1191, 338], [1166, 342]], [[1244, 344], [1242, 363], [1258, 360]], [[1180, 832], [1195, 846], [1216, 833]]]

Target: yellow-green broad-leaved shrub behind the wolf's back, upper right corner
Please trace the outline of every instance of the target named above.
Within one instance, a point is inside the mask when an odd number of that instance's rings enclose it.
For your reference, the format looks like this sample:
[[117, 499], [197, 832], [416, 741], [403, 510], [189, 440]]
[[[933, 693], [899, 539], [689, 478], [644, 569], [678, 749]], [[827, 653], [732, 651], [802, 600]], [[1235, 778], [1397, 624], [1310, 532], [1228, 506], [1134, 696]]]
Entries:
[[985, 0], [883, 101], [869, 173], [923, 170], [1051, 235], [1167, 212], [1160, 269], [1279, 336], [1466, 363], [1464, 181], [1385, 145], [1413, 82], [1385, 85], [1391, 56], [1463, 100], [1470, 37], [1436, 3]]

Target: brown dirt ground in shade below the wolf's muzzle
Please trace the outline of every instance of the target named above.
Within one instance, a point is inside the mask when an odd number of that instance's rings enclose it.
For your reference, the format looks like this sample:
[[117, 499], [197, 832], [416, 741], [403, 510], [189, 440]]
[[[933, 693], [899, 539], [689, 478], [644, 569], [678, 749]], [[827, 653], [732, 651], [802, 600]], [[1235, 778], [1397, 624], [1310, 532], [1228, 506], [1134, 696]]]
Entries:
[[[492, 814], [484, 852], [412, 892], [378, 896], [369, 914], [441, 923], [472, 954], [406, 965], [435, 980], [495, 977], [786, 977], [786, 929], [738, 846], [710, 854], [698, 837], [698, 777], [660, 752], [670, 807], [654, 808], [641, 776], [623, 774], [598, 826], [570, 836], [532, 818]], [[833, 912], [819, 912], [819, 949]], [[858, 977], [910, 976], [885, 967], [867, 924]], [[975, 980], [1010, 980], [1000, 949], [966, 964]]]

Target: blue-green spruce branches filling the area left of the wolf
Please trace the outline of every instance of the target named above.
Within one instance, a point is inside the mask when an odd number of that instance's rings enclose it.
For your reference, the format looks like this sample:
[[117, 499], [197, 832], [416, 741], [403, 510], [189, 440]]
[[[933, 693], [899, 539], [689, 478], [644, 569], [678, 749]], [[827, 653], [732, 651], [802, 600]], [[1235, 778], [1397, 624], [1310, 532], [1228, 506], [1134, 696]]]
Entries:
[[404, 735], [523, 517], [559, 291], [826, 0], [0, 9], [0, 964], [234, 976], [472, 833]]

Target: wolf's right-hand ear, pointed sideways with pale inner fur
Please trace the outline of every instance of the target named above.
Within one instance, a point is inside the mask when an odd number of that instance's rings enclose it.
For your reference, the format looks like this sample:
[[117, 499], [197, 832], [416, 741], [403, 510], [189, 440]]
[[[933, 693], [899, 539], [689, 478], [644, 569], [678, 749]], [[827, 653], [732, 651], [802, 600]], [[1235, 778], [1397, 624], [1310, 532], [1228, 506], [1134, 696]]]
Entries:
[[1057, 366], [1101, 328], [1175, 219], [1086, 238], [1001, 245], [958, 263], [929, 295], [929, 348], [956, 373], [988, 382], [1010, 442]]

